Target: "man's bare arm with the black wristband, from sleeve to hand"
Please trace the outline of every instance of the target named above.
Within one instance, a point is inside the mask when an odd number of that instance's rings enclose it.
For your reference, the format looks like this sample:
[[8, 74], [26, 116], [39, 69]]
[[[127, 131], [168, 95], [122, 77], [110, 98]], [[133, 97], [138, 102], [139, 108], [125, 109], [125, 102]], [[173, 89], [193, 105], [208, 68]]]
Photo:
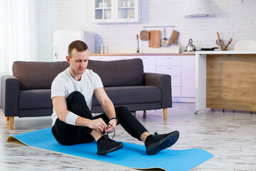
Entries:
[[[100, 105], [102, 106], [102, 109], [107, 115], [107, 118], [116, 118], [116, 113], [114, 110], [114, 105], [110, 98], [107, 96], [107, 93], [105, 92], [104, 88], [97, 88], [94, 91], [95, 97], [99, 101]], [[117, 125], [117, 120], [110, 120], [110, 123], [114, 128]], [[109, 127], [109, 129], [106, 130], [107, 133], [112, 132], [113, 128]]]

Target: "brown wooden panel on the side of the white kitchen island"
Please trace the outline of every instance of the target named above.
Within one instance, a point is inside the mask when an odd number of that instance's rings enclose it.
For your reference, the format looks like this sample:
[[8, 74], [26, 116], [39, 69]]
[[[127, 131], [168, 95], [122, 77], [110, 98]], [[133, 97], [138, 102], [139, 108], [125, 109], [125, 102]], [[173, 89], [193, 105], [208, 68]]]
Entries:
[[206, 108], [256, 111], [256, 55], [208, 54]]

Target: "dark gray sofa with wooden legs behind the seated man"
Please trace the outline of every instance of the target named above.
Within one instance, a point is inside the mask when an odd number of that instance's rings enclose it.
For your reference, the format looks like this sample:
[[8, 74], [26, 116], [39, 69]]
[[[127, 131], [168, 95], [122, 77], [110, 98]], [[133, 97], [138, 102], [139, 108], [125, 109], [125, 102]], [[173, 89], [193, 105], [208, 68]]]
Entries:
[[[63, 62], [15, 61], [13, 76], [1, 77], [1, 106], [14, 127], [14, 117], [48, 116], [53, 113], [50, 86], [58, 73], [68, 68]], [[164, 109], [172, 107], [171, 76], [144, 73], [139, 58], [120, 61], [89, 61], [92, 69], [102, 79], [105, 91], [114, 106], [124, 105], [131, 111]], [[101, 113], [97, 99], [92, 98], [92, 113]]]

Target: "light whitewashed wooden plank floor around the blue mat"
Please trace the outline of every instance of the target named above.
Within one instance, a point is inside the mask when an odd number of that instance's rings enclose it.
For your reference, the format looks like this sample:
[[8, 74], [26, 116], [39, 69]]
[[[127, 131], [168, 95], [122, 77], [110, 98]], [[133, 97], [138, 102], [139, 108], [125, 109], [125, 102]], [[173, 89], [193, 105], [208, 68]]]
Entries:
[[[256, 170], [256, 114], [228, 110], [205, 109], [194, 114], [194, 103], [174, 103], [168, 109], [168, 119], [162, 110], [142, 111], [136, 117], [150, 133], [169, 133], [179, 130], [180, 139], [170, 149], [184, 150], [199, 147], [215, 157], [193, 170]], [[0, 170], [132, 170], [80, 157], [28, 147], [20, 142], [6, 142], [9, 135], [49, 128], [50, 117], [15, 118], [14, 130], [0, 109]], [[142, 144], [117, 127], [114, 140]], [[168, 162], [168, 161], [166, 161]]]

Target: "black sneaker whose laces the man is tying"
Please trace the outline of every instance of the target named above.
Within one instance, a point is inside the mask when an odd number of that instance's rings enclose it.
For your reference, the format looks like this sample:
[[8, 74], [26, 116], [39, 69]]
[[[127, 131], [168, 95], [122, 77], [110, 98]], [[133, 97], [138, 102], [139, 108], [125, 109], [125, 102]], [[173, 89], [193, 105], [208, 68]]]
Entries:
[[97, 140], [97, 155], [106, 155], [107, 153], [114, 152], [124, 147], [122, 142], [115, 142], [111, 140], [107, 135]]

